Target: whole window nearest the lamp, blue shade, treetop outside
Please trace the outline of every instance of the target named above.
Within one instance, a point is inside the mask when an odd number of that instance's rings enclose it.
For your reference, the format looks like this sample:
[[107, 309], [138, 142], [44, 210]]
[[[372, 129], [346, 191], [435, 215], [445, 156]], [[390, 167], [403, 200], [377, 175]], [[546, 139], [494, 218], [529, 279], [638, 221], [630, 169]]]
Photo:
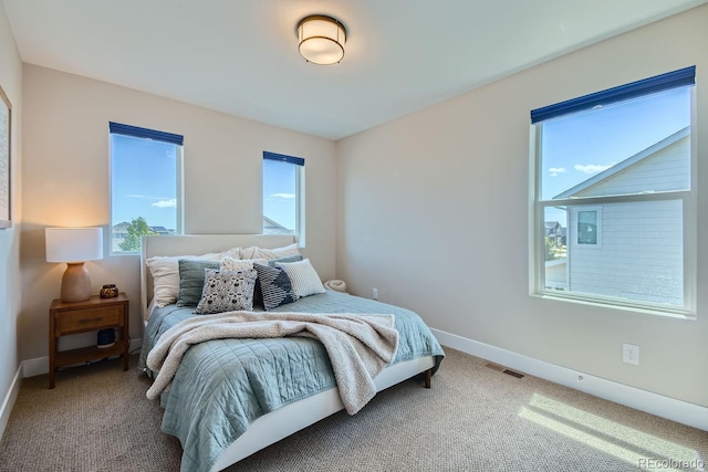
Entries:
[[180, 135], [110, 123], [111, 253], [140, 251], [146, 234], [181, 233]]

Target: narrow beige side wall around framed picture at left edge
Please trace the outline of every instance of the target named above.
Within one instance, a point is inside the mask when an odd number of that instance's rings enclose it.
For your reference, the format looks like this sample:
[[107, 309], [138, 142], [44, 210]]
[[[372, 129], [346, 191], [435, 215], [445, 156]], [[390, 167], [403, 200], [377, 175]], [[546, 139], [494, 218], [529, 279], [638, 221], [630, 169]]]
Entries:
[[[0, 3], [0, 86], [12, 105], [11, 180], [12, 228], [0, 230], [0, 409], [20, 366], [20, 231], [22, 228], [22, 63]], [[0, 412], [2, 412], [0, 410]], [[9, 415], [9, 411], [6, 411]], [[0, 418], [0, 436], [7, 417]]]

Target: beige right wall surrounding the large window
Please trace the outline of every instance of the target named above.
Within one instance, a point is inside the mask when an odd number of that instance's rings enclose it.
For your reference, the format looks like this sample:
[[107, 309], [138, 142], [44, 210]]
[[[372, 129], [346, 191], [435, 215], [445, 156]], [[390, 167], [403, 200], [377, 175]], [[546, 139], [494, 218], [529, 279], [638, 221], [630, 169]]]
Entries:
[[[337, 276], [434, 328], [708, 407], [706, 24], [708, 6], [339, 141]], [[529, 296], [529, 112], [693, 64], [698, 319]]]

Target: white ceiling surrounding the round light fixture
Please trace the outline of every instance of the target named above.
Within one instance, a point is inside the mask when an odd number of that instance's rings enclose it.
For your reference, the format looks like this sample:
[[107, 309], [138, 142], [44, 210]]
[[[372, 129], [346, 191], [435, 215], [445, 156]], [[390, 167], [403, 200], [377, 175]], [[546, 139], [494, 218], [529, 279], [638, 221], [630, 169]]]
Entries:
[[[330, 139], [708, 0], [2, 0], [23, 62]], [[340, 64], [295, 27], [347, 29]]]

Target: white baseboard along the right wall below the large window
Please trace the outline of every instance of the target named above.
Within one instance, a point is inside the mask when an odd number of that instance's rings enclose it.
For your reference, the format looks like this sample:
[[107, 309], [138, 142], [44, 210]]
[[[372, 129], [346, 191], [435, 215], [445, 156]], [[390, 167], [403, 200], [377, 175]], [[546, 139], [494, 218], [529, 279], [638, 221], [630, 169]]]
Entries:
[[444, 346], [520, 370], [554, 384], [604, 398], [636, 410], [708, 431], [708, 408], [590, 374], [556, 366], [439, 329], [431, 329]]

